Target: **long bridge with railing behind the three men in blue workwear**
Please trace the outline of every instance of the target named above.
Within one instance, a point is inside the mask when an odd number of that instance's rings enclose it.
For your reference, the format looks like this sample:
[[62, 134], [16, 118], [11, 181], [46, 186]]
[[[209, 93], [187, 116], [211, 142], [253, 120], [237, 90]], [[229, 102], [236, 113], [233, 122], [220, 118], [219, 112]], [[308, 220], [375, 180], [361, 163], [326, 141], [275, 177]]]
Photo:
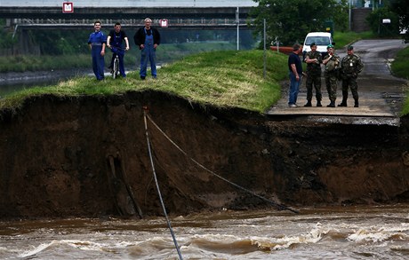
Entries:
[[0, 18], [10, 28], [90, 28], [94, 20], [104, 25], [121, 22], [124, 28], [142, 26], [147, 17], [159, 26], [167, 20], [168, 29], [241, 29], [247, 27], [247, 7], [79, 7], [62, 12], [61, 7], [0, 6]]

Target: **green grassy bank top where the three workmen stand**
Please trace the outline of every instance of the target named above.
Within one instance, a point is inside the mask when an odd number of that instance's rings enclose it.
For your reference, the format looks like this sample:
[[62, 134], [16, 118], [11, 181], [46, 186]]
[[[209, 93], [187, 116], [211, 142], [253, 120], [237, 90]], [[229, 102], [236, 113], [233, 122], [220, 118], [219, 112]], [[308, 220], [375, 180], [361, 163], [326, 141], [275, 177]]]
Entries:
[[159, 70], [156, 80], [141, 81], [137, 72], [126, 79], [77, 77], [50, 87], [36, 87], [13, 93], [0, 100], [0, 108], [18, 109], [25, 98], [42, 94], [58, 96], [112, 95], [125, 91], [153, 89], [166, 91], [199, 103], [237, 106], [264, 112], [280, 98], [279, 81], [287, 74], [287, 56], [266, 51], [267, 70], [263, 77], [263, 51], [214, 51], [180, 59]]

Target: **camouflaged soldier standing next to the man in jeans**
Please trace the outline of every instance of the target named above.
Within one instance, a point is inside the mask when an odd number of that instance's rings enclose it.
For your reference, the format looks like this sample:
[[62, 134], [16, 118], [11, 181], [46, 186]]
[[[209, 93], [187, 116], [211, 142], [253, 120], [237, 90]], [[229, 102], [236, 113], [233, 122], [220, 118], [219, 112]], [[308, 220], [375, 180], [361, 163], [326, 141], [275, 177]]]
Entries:
[[323, 62], [321, 53], [317, 51], [317, 44], [309, 45], [311, 51], [307, 52], [304, 61], [307, 63], [307, 104], [304, 106], [312, 106], [312, 84], [316, 89], [317, 106], [321, 105], [321, 63]]

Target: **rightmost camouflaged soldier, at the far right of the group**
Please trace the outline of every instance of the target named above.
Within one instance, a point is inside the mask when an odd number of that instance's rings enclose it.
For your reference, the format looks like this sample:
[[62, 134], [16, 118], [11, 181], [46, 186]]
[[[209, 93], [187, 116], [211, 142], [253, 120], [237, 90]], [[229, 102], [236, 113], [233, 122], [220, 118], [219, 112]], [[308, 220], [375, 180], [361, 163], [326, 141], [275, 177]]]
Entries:
[[342, 71], [342, 102], [338, 106], [347, 106], [348, 87], [351, 89], [352, 97], [355, 99], [355, 107], [359, 106], [357, 93], [357, 75], [364, 69], [361, 58], [354, 54], [354, 47], [349, 46], [348, 55], [341, 60]]

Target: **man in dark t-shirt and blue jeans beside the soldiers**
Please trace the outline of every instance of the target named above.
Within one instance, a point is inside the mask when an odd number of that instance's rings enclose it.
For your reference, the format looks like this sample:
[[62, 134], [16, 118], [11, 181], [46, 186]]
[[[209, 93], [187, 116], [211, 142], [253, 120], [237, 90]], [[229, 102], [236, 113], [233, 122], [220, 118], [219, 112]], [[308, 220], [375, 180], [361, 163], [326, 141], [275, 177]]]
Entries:
[[288, 56], [288, 69], [290, 75], [290, 93], [288, 98], [288, 106], [297, 107], [297, 97], [300, 91], [302, 66], [300, 59], [300, 44], [293, 45], [293, 52]]

